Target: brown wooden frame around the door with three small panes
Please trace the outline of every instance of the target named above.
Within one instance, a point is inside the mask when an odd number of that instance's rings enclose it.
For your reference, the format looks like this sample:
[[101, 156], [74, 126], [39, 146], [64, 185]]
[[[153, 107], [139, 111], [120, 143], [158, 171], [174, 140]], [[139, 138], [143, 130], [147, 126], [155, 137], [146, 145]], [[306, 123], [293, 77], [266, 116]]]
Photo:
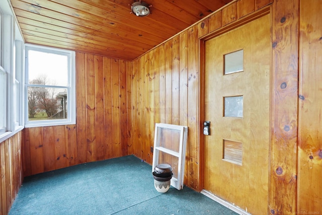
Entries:
[[[198, 146], [199, 146], [199, 159], [198, 159], [198, 162], [199, 162], [199, 169], [198, 169], [198, 180], [199, 180], [199, 183], [198, 183], [198, 191], [202, 191], [204, 189], [204, 166], [205, 166], [205, 162], [204, 162], [204, 150], [205, 150], [205, 146], [204, 146], [204, 134], [203, 134], [203, 122], [205, 120], [205, 43], [207, 40], [210, 40], [214, 37], [217, 37], [219, 35], [222, 35], [230, 30], [233, 30], [235, 28], [238, 28], [239, 26], [243, 26], [249, 22], [252, 22], [253, 20], [256, 20], [260, 17], [263, 17], [265, 15], [268, 15], [270, 14], [270, 16], [272, 17], [271, 15], [271, 12], [272, 12], [272, 6], [269, 5], [267, 7], [264, 7], [263, 9], [261, 10], [258, 10], [248, 16], [245, 16], [244, 18], [241, 18], [235, 22], [232, 22], [228, 25], [225, 25], [209, 34], [206, 34], [205, 36], [203, 37], [200, 37], [199, 38], [199, 86], [198, 86], [198, 92], [199, 92], [199, 96], [198, 96], [198, 118], [199, 118], [199, 126], [198, 126]], [[270, 18], [272, 19], [272, 18]], [[271, 35], [272, 35], [272, 32], [271, 32]], [[273, 80], [273, 73], [272, 73], [272, 68], [271, 68], [271, 75], [270, 75], [270, 104], [272, 104], [272, 91], [273, 91], [273, 88], [272, 88], [272, 80]], [[272, 105], [270, 107], [270, 112], [272, 113]], [[271, 127], [271, 124], [272, 124], [272, 114], [270, 114], [270, 127]], [[272, 135], [270, 134], [269, 135], [269, 143], [271, 145], [271, 141], [272, 140]], [[269, 146], [269, 149], [271, 149], [271, 146]], [[269, 150], [269, 169], [267, 169], [267, 171], [269, 172], [269, 183], [270, 183], [270, 158], [271, 158], [271, 151]], [[269, 185], [270, 186], [270, 185]], [[270, 189], [270, 187], [269, 187]], [[269, 192], [269, 190], [268, 190]], [[205, 194], [205, 193], [204, 193]], [[210, 197], [209, 195], [207, 195], [208, 197]], [[230, 205], [230, 203], [228, 202], [225, 202], [225, 201], [221, 201], [220, 202], [220, 199], [219, 198], [213, 198], [214, 200], [218, 201], [219, 203], [221, 204], [224, 204], [225, 206], [231, 208], [231, 206], [235, 207], [234, 205]], [[268, 202], [269, 202], [269, 199], [268, 199]], [[226, 203], [228, 203], [229, 205], [227, 205]], [[237, 208], [237, 207], [236, 207]], [[240, 212], [240, 209], [238, 210]], [[236, 212], [238, 212], [236, 211]], [[245, 211], [244, 211], [245, 212]]]

